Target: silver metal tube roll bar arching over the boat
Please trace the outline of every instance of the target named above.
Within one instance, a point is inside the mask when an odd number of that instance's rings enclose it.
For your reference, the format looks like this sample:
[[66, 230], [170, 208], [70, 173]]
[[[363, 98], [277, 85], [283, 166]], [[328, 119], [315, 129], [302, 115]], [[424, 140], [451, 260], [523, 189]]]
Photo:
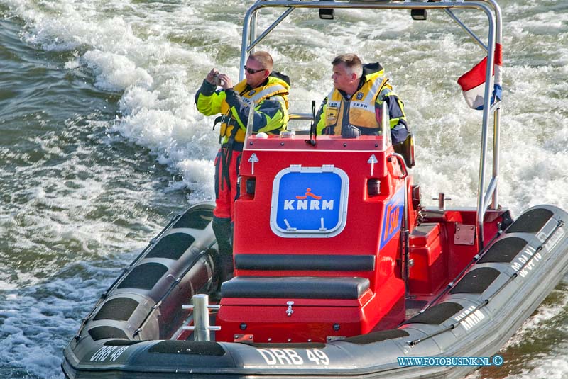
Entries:
[[[266, 30], [257, 38], [256, 17], [257, 12], [262, 8], [285, 8], [280, 15]], [[501, 104], [496, 100], [491, 105], [491, 95], [493, 93], [493, 64], [495, 63], [495, 46], [501, 44], [502, 38], [502, 17], [501, 8], [495, 0], [442, 0], [442, 1], [394, 1], [394, 0], [359, 0], [359, 1], [304, 1], [304, 0], [258, 0], [246, 12], [244, 18], [242, 45], [241, 45], [241, 66], [239, 67], [239, 80], [244, 79], [244, 64], [249, 52], [252, 52], [256, 45], [263, 40], [278, 24], [292, 13], [296, 8], [311, 9], [442, 9], [444, 10], [466, 33], [487, 53], [486, 86], [484, 91], [484, 113], [481, 128], [481, 157], [479, 162], [479, 184], [477, 191], [477, 217], [476, 234], [479, 249], [484, 247], [483, 225], [486, 210], [498, 208], [498, 174], [499, 174], [499, 129], [501, 127]], [[468, 28], [452, 11], [453, 9], [476, 9], [486, 13], [488, 18], [487, 44]], [[491, 180], [488, 186], [485, 184], [486, 159], [488, 145], [488, 125], [489, 115], [493, 113], [493, 166]]]

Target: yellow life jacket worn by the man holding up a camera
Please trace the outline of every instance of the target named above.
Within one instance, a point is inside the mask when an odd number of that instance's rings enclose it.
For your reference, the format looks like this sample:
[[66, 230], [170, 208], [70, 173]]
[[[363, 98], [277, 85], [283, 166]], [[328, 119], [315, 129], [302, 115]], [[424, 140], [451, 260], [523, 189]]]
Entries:
[[[273, 96], [278, 96], [276, 99], [281, 98], [285, 102], [285, 107], [288, 109], [288, 91], [290, 86], [277, 77], [268, 77], [266, 85], [256, 87], [250, 91], [246, 91], [246, 79], [236, 84], [234, 90], [241, 95], [241, 103], [250, 106], [258, 106], [263, 101], [270, 99]], [[229, 106], [226, 100], [221, 103], [221, 113], [223, 115], [221, 120], [221, 130], [219, 131], [219, 140], [222, 144], [229, 141], [231, 135], [234, 134], [235, 142], [244, 142], [246, 124], [240, 120], [238, 113]], [[288, 121], [288, 120], [285, 120]]]

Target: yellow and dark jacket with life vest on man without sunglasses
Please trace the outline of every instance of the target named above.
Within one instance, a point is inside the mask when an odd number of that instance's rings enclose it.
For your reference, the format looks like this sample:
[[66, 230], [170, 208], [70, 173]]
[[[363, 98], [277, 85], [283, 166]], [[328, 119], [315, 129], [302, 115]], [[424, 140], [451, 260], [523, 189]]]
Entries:
[[383, 102], [386, 102], [393, 144], [403, 142], [408, 136], [404, 104], [383, 75], [381, 64], [364, 64], [359, 89], [352, 96], [333, 89], [317, 112], [317, 134], [345, 137], [356, 130], [361, 135], [379, 135]]

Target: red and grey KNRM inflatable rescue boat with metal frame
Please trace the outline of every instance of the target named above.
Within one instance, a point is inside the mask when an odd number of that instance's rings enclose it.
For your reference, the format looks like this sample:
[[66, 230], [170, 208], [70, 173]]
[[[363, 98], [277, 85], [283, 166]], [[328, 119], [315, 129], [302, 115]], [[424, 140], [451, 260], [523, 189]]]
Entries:
[[[493, 0], [325, 5], [479, 9], [489, 15], [487, 67], [501, 39]], [[258, 1], [245, 18], [243, 61], [256, 44], [253, 15], [268, 6], [321, 4]], [[85, 317], [65, 348], [65, 375], [461, 378], [477, 366], [501, 365], [494, 354], [568, 271], [568, 214], [541, 205], [513, 221], [498, 206], [501, 110], [498, 98], [490, 101], [485, 96], [481, 180], [471, 208], [446, 209], [443, 193], [437, 208], [422, 205], [409, 175], [412, 137], [393, 147], [388, 120], [378, 136], [316, 137], [313, 113], [293, 115], [280, 135], [249, 133], [235, 205], [234, 277], [219, 283], [213, 205], [193, 206]], [[182, 306], [192, 297], [193, 307]]]

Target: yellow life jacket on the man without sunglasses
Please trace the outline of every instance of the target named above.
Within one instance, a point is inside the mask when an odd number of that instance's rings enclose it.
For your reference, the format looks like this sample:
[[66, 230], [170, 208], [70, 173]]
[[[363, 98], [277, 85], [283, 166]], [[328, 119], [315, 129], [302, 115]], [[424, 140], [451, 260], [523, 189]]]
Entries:
[[350, 101], [347, 101], [338, 89], [333, 89], [327, 95], [324, 121], [325, 126], [333, 130], [329, 134], [341, 135], [342, 125], [346, 120], [357, 128], [381, 128], [377, 121], [375, 104], [381, 106], [382, 98], [392, 91], [383, 74], [384, 71], [381, 70], [366, 75], [363, 86], [351, 96]]

